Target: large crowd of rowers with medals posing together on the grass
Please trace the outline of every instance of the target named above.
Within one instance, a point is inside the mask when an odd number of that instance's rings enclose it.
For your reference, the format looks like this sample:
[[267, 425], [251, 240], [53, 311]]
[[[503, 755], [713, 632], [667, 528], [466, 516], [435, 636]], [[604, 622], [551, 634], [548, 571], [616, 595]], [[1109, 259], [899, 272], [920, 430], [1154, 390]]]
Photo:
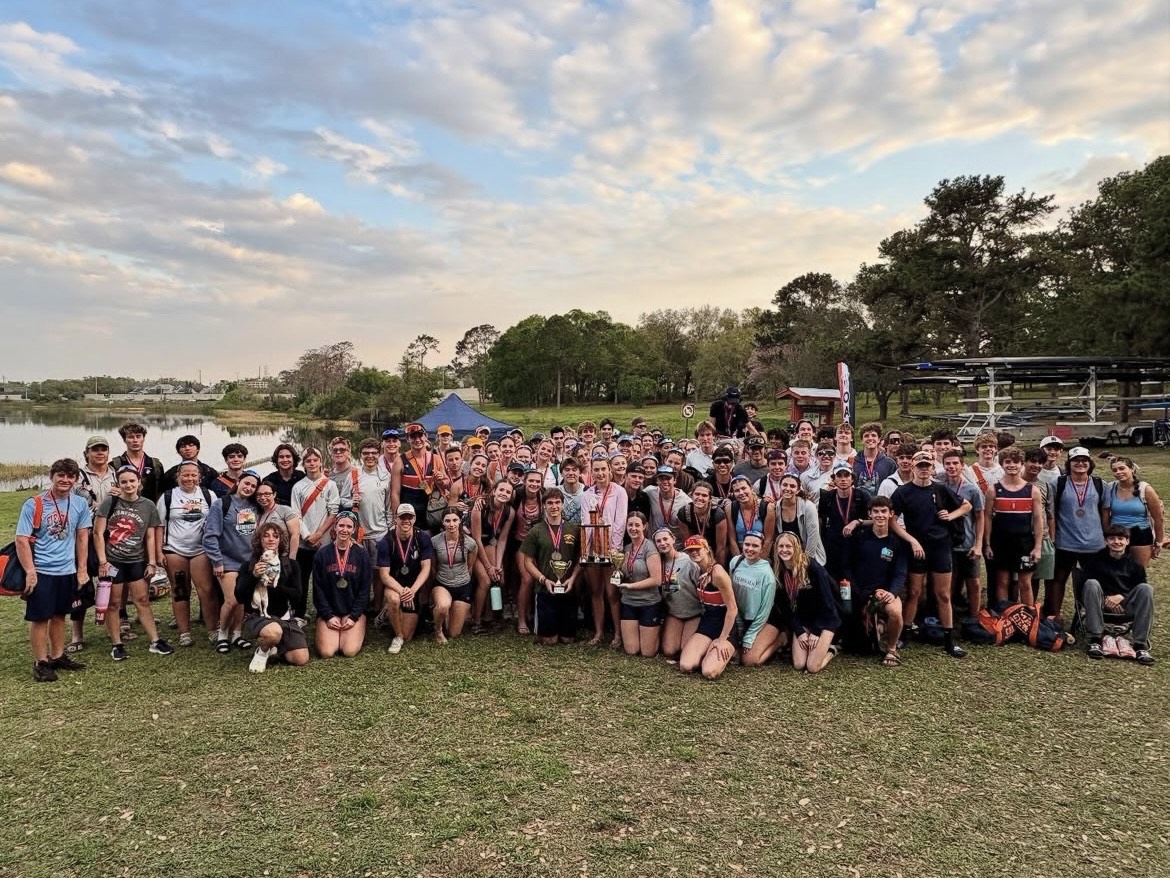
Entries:
[[[266, 475], [239, 443], [214, 467], [185, 435], [164, 468], [145, 426], [118, 432], [112, 459], [95, 435], [83, 462], [54, 462], [18, 521], [40, 681], [84, 666], [90, 608], [116, 661], [131, 606], [150, 653], [178, 651], [168, 627], [194, 646], [193, 598], [211, 647], [257, 673], [511, 626], [708, 678], [777, 656], [817, 673], [842, 649], [896, 666], [914, 639], [963, 658], [985, 608], [1060, 619], [1074, 574], [1088, 656], [1154, 663], [1157, 492], [1133, 460], [1112, 458], [1106, 481], [1052, 435], [1025, 450], [980, 434], [969, 461], [948, 430], [765, 430], [735, 389], [679, 440], [642, 418], [459, 440], [408, 424], [356, 448], [281, 444]], [[1108, 635], [1114, 615], [1128, 637]]]

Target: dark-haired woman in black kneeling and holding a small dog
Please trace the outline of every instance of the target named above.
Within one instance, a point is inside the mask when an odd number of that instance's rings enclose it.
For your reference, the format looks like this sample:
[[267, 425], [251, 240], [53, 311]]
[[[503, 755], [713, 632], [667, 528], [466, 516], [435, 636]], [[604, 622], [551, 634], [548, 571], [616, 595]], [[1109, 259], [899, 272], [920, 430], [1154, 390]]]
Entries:
[[248, 665], [253, 673], [263, 673], [274, 656], [290, 665], [309, 664], [309, 643], [292, 618], [300, 594], [301, 570], [289, 557], [288, 531], [267, 521], [252, 537], [252, 562], [240, 568], [235, 581], [235, 599], [245, 610], [243, 636], [256, 644]]

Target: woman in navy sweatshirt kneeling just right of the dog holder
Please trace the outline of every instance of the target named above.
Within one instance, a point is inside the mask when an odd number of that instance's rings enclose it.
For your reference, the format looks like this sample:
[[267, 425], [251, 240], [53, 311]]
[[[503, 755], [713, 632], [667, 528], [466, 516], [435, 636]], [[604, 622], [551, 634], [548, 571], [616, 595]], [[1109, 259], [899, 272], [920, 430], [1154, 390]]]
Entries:
[[350, 658], [365, 643], [365, 611], [373, 568], [365, 547], [355, 541], [358, 516], [337, 514], [332, 542], [312, 560], [312, 605], [317, 610], [317, 654]]

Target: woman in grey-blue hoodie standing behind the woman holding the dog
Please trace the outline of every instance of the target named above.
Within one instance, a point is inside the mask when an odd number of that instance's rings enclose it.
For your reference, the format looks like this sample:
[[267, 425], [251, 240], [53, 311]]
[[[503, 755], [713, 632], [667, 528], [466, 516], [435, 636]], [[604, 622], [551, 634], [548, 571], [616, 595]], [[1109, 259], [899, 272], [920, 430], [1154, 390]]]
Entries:
[[232, 492], [212, 505], [204, 527], [204, 551], [223, 594], [219, 631], [211, 632], [215, 635], [215, 651], [220, 654], [230, 652], [233, 646], [240, 650], [253, 646], [242, 636], [243, 608], [235, 601], [235, 581], [240, 568], [252, 560], [252, 536], [260, 519], [253, 498], [259, 485], [260, 476], [254, 472], [241, 473]]

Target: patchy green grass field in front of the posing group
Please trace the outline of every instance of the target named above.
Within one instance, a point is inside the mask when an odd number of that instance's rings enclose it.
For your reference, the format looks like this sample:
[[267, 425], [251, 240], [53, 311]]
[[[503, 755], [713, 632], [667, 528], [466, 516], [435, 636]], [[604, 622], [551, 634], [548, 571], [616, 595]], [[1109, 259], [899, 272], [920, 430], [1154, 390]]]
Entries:
[[[1140, 459], [1170, 495], [1170, 452]], [[1170, 873], [1164, 609], [1152, 668], [914, 646], [714, 684], [511, 636], [262, 677], [139, 638], [115, 665], [90, 627], [90, 667], [36, 685], [20, 612], [0, 602], [5, 878]]]

